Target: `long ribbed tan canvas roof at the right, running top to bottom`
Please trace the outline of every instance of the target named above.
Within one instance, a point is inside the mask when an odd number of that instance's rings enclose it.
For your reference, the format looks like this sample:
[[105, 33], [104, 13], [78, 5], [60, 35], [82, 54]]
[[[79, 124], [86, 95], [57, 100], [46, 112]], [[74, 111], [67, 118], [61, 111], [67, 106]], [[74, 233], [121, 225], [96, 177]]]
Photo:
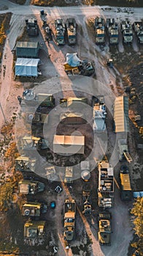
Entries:
[[120, 96], [115, 99], [114, 120], [115, 132], [128, 132], [128, 97]]

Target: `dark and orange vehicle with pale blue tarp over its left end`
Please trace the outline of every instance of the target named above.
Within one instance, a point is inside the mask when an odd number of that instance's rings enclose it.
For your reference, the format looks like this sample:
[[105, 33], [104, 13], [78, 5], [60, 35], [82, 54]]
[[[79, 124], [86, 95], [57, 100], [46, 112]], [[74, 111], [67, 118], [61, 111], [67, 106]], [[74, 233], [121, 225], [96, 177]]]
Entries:
[[66, 62], [63, 64], [67, 75], [93, 75], [95, 69], [90, 61], [80, 60], [77, 53], [66, 53]]

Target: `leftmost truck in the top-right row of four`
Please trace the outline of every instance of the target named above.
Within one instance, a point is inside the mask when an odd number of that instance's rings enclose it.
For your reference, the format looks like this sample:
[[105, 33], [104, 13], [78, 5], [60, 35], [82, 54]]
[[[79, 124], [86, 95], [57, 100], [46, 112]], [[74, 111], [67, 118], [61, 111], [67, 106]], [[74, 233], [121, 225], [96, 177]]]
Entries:
[[96, 31], [96, 44], [104, 45], [105, 43], [105, 20], [101, 17], [96, 17], [94, 28]]

